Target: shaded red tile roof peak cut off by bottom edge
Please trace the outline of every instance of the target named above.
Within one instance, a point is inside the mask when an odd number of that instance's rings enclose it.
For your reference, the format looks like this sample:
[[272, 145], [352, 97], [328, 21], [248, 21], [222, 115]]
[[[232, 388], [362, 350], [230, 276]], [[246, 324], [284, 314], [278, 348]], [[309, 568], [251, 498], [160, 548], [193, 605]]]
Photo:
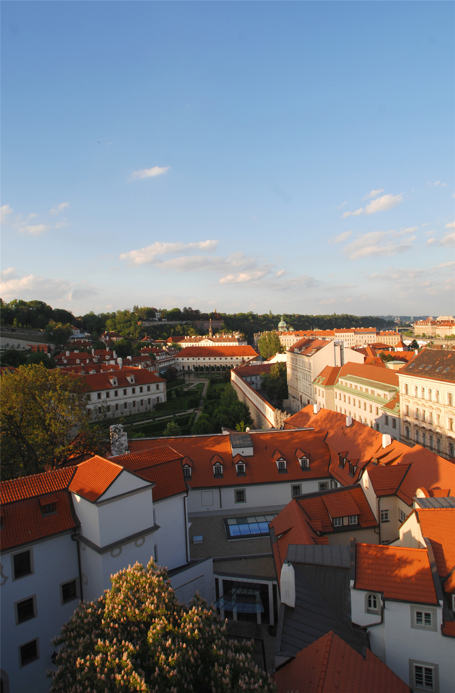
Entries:
[[373, 652], [365, 658], [330, 631], [274, 674], [277, 693], [410, 693]]

